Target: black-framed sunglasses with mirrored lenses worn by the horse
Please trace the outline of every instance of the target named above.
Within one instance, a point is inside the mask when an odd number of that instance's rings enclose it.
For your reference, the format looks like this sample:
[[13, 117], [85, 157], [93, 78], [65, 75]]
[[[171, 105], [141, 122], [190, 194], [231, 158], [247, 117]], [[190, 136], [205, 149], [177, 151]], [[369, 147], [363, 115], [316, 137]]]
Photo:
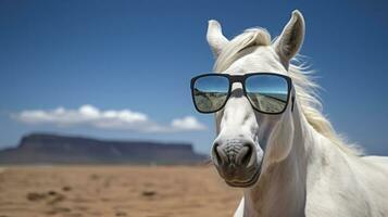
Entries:
[[197, 111], [215, 113], [222, 110], [234, 82], [242, 85], [243, 94], [252, 107], [264, 114], [283, 113], [292, 87], [291, 78], [274, 73], [199, 75], [191, 79], [191, 95]]

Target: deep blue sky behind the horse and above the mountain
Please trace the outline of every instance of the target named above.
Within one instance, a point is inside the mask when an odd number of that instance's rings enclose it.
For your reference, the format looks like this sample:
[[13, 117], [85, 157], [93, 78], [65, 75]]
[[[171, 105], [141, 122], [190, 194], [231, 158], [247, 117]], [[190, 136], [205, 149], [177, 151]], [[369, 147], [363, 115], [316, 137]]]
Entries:
[[[306, 22], [301, 53], [317, 71], [325, 114], [368, 153], [388, 154], [386, 1], [2, 0], [0, 146], [50, 131], [188, 141], [206, 153], [213, 116], [196, 113], [189, 79], [212, 68], [208, 20], [229, 38], [252, 26], [276, 36], [295, 9]], [[23, 111], [51, 119], [23, 123], [15, 118]], [[121, 126], [123, 118], [143, 130]]]

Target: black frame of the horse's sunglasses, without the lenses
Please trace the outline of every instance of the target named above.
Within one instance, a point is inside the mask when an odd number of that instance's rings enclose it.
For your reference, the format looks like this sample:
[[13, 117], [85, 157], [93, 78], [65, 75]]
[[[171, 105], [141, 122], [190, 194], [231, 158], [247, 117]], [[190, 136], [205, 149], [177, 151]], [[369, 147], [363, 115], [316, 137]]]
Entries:
[[[284, 79], [286, 79], [287, 81], [287, 85], [288, 85], [288, 90], [287, 90], [287, 101], [286, 101], [286, 105], [285, 107], [283, 108], [283, 111], [278, 112], [278, 113], [267, 113], [267, 112], [263, 112], [263, 111], [260, 111], [259, 108], [256, 108], [253, 103], [251, 102], [251, 100], [249, 99], [249, 97], [247, 95], [247, 90], [246, 90], [246, 80], [247, 78], [251, 77], [251, 76], [254, 76], [254, 75], [271, 75], [271, 76], [276, 76], [276, 77], [281, 77]], [[199, 78], [202, 78], [202, 77], [206, 77], [206, 76], [218, 76], [218, 77], [226, 77], [229, 81], [229, 87], [228, 87], [228, 92], [227, 92], [227, 97], [226, 97], [226, 100], [224, 102], [224, 104], [222, 106], [220, 106], [218, 110], [215, 110], [215, 111], [212, 111], [212, 112], [202, 112], [198, 108], [197, 104], [196, 104], [196, 99], [195, 99], [195, 85], [196, 85], [196, 81], [199, 79]], [[225, 104], [227, 103], [227, 101], [229, 100], [230, 98], [230, 94], [231, 94], [231, 86], [235, 82], [240, 82], [241, 86], [242, 86], [242, 92], [243, 92], [243, 95], [248, 99], [249, 103], [251, 104], [252, 108], [259, 113], [262, 113], [262, 114], [268, 114], [268, 115], [278, 115], [278, 114], [281, 114], [286, 111], [287, 106], [288, 106], [288, 103], [290, 101], [290, 92], [291, 92], [291, 89], [292, 89], [292, 80], [290, 77], [286, 76], [286, 75], [279, 75], [279, 74], [276, 74], [276, 73], [250, 73], [250, 74], [243, 74], [243, 75], [229, 75], [229, 74], [215, 74], [215, 73], [208, 73], [208, 74], [202, 74], [202, 75], [198, 75], [193, 78], [191, 78], [191, 81], [190, 81], [190, 88], [191, 88], [191, 98], [192, 98], [192, 102], [195, 104], [195, 107], [196, 110], [199, 112], [199, 113], [203, 113], [203, 114], [210, 114], [210, 113], [216, 113], [218, 112], [220, 110], [224, 108]], [[292, 101], [293, 101], [293, 97], [292, 97]], [[292, 102], [293, 103], [293, 102]], [[293, 104], [292, 104], [292, 110], [293, 110]]]

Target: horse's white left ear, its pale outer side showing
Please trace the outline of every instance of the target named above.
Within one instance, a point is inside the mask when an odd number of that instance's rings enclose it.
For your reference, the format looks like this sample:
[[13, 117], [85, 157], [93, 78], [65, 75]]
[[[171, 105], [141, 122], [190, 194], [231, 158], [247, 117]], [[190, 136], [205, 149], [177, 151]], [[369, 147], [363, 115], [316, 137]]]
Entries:
[[217, 58], [223, 48], [229, 42], [223, 35], [220, 23], [214, 20], [209, 21], [206, 39], [214, 58]]

